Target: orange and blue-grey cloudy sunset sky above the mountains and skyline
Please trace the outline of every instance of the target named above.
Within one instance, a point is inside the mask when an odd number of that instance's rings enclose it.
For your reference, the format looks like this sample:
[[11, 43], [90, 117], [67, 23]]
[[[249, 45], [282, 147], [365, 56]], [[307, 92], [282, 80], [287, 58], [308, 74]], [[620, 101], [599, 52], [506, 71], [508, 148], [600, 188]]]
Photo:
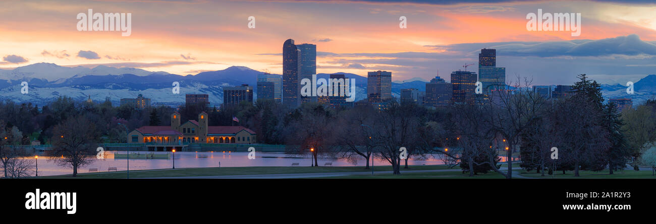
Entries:
[[[131, 13], [131, 35], [78, 31], [88, 9]], [[527, 30], [539, 9], [581, 13], [581, 34]], [[626, 84], [656, 73], [655, 14], [649, 1], [2, 1], [0, 69], [48, 62], [195, 75], [241, 65], [281, 74], [282, 45], [294, 39], [317, 45], [318, 73], [428, 81], [439, 71], [449, 81], [464, 64], [478, 71], [481, 48], [496, 48], [509, 82], [571, 84], [586, 73]]]

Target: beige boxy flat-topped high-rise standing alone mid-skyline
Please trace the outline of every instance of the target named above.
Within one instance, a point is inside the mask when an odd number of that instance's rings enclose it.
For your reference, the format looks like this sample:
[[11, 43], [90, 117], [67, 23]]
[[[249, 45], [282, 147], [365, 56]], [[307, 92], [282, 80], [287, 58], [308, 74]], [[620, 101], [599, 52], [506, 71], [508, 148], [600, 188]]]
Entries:
[[369, 71], [367, 73], [367, 99], [373, 103], [392, 100], [391, 71]]

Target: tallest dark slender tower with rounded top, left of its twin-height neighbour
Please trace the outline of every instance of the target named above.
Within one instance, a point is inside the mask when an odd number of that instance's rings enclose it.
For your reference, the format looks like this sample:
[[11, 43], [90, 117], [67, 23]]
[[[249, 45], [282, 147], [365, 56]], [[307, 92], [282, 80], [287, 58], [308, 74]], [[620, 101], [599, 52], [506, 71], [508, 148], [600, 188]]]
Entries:
[[301, 52], [293, 39], [283, 44], [283, 104], [289, 107], [300, 105]]

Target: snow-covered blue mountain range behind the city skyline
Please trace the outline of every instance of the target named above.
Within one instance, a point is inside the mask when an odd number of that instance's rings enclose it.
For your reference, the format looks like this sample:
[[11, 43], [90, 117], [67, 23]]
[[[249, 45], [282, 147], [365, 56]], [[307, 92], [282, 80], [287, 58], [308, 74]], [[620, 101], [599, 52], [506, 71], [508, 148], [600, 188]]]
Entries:
[[[59, 96], [69, 96], [74, 100], [104, 101], [109, 97], [118, 105], [121, 98], [136, 98], [142, 94], [154, 104], [180, 105], [184, 94], [208, 94], [212, 105], [223, 102], [225, 86], [249, 84], [255, 88], [257, 75], [262, 72], [245, 66], [232, 66], [218, 71], [205, 71], [196, 75], [176, 75], [164, 71], [146, 71], [132, 67], [108, 67], [98, 65], [88, 67], [64, 67], [50, 63], [37, 63], [0, 69], [0, 100], [31, 102], [45, 105]], [[356, 101], [365, 99], [367, 78], [353, 73], [343, 74], [356, 79]], [[319, 73], [317, 79], [328, 79], [329, 74]], [[21, 94], [20, 83], [30, 84], [28, 94]], [[172, 83], [180, 83], [180, 94], [173, 94]], [[400, 96], [402, 88], [425, 90], [426, 81], [420, 78], [392, 82], [392, 95]], [[634, 84], [635, 94], [626, 94], [626, 86], [621, 84], [602, 84], [604, 98], [631, 98], [634, 104], [649, 100], [656, 95], [656, 75], [647, 75]], [[257, 94], [257, 92], [255, 92]]]

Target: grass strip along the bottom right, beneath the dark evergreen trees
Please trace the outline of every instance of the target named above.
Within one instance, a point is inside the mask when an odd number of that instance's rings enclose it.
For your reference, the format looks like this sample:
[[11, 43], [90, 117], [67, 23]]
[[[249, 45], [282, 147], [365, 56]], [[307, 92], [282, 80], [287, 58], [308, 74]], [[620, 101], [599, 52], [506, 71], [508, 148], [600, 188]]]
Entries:
[[652, 179], [656, 178], [656, 176], [651, 176], [651, 170], [619, 170], [614, 172], [614, 174], [608, 174], [608, 170], [602, 170], [599, 172], [593, 172], [593, 171], [587, 171], [587, 170], [580, 170], [579, 171], [579, 177], [574, 176], [573, 171], [567, 171], [565, 174], [562, 172], [556, 171], [556, 176], [550, 176], [548, 174], [544, 174], [544, 177], [541, 176], [541, 174], [535, 173], [535, 171], [532, 172], [526, 172], [525, 170], [522, 170], [522, 173], [520, 175], [524, 177], [537, 177], [537, 178], [543, 178], [543, 179]]

